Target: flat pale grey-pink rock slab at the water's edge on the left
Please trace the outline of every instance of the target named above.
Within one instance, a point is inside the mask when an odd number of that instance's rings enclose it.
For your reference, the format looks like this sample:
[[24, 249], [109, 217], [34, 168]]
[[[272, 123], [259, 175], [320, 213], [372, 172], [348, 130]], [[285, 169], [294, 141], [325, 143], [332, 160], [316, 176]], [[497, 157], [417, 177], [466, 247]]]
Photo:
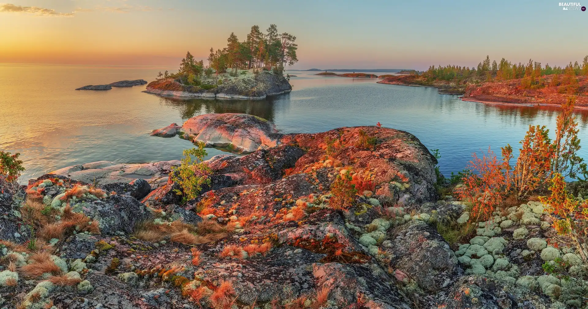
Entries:
[[64, 167], [49, 174], [97, 185], [116, 182], [131, 183], [135, 179], [145, 179], [152, 189], [156, 189], [168, 182], [172, 167], [179, 165], [179, 160], [134, 164], [98, 161]]

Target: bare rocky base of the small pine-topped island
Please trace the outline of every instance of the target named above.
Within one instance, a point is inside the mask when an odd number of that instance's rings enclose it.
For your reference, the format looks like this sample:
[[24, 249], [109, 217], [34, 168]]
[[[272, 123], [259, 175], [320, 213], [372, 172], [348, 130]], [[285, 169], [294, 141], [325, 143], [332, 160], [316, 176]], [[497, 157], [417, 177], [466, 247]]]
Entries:
[[145, 92], [178, 98], [260, 100], [291, 90], [282, 74], [262, 70], [257, 74], [223, 78], [219, 85], [192, 86], [172, 78], [158, 79], [149, 83]]

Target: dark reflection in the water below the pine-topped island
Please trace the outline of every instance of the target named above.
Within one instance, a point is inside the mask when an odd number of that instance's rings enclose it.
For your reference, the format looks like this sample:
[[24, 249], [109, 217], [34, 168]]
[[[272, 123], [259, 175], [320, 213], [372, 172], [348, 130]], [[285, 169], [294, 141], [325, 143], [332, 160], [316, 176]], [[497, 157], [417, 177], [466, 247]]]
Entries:
[[269, 100], [210, 100], [159, 98], [159, 102], [178, 109], [182, 119], [209, 113], [245, 113], [273, 122], [273, 102]]

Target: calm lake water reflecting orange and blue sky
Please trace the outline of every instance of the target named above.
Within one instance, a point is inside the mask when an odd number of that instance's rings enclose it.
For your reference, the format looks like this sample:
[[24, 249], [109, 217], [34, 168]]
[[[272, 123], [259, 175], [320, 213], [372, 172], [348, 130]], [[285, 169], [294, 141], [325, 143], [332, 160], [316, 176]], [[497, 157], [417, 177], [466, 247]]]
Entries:
[[[21, 153], [26, 167], [21, 181], [99, 160], [180, 159], [191, 143], [149, 132], [204, 113], [249, 113], [270, 120], [283, 133], [380, 122], [413, 133], [429, 149], [440, 149], [441, 172], [449, 175], [488, 146], [498, 154], [507, 143], [518, 149], [529, 125], [546, 125], [553, 132], [557, 116], [555, 109], [463, 102], [455, 95], [439, 95], [435, 88], [300, 71], [288, 71], [298, 76], [290, 80], [291, 93], [261, 101], [160, 98], [143, 93], [145, 85], [74, 90], [125, 79], [151, 81], [166, 69], [176, 68], [0, 64], [0, 150]], [[588, 114], [577, 116], [580, 138], [587, 141]], [[581, 154], [588, 158], [588, 147]]]

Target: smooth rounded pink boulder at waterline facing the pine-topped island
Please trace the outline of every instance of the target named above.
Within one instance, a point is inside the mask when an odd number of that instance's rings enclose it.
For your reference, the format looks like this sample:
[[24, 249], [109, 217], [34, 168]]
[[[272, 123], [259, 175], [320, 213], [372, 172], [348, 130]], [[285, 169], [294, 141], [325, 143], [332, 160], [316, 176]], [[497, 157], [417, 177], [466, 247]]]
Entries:
[[207, 147], [224, 147], [239, 153], [275, 147], [281, 135], [268, 120], [246, 114], [206, 114], [182, 125], [182, 137]]

